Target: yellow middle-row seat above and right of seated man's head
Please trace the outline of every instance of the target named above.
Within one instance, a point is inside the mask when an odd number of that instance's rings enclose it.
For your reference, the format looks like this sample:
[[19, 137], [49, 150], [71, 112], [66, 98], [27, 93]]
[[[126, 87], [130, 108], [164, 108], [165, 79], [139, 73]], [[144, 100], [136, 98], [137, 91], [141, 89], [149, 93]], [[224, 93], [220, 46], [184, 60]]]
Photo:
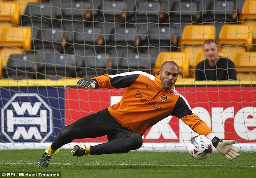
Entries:
[[253, 48], [253, 28], [250, 25], [223, 25], [220, 29], [218, 44], [221, 46], [243, 46]]

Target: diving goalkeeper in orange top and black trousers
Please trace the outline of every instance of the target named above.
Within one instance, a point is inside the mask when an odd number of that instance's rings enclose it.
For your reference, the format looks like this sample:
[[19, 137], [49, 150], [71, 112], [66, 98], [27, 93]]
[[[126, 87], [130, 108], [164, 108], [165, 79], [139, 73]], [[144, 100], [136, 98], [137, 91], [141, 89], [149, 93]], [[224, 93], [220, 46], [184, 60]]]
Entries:
[[65, 126], [52, 145], [39, 159], [38, 167], [47, 167], [57, 155], [59, 148], [74, 139], [94, 138], [107, 135], [108, 142], [91, 147], [73, 146], [73, 156], [127, 153], [142, 146], [142, 136], [148, 128], [166, 118], [176, 116], [199, 135], [212, 140], [214, 147], [230, 161], [240, 156], [235, 141], [220, 140], [212, 130], [193, 113], [188, 101], [180, 95], [174, 84], [179, 67], [166, 61], [154, 77], [146, 72], [125, 72], [117, 75], [102, 75], [92, 79], [81, 79], [78, 85], [86, 89], [126, 88], [121, 101], [95, 114], [85, 116]]

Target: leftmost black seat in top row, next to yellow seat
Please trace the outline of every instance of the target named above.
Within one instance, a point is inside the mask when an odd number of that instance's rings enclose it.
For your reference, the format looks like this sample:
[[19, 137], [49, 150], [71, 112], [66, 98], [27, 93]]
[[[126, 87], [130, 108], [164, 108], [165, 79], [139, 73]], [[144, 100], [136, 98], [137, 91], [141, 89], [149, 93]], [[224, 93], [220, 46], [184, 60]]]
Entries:
[[24, 14], [21, 14], [21, 24], [29, 27], [45, 28], [53, 24], [55, 8], [50, 2], [29, 3]]

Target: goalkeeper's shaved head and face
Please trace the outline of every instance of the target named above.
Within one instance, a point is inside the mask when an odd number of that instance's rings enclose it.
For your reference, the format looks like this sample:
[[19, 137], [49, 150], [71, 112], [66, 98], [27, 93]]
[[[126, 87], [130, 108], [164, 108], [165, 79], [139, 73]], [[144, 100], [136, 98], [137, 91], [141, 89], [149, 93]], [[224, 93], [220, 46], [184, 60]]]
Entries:
[[178, 79], [179, 67], [176, 62], [166, 61], [159, 70], [159, 76], [164, 89], [171, 89]]

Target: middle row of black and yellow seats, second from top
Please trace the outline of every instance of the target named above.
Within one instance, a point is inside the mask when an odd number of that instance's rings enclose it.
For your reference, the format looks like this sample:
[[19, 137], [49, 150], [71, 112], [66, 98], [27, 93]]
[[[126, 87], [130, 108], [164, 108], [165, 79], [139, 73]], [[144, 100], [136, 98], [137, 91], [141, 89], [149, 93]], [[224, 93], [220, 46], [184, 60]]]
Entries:
[[[61, 28], [37, 29], [36, 31], [30, 27], [1, 23], [0, 45], [23, 46], [26, 50], [42, 48], [61, 50], [66, 47], [97, 50], [100, 47], [105, 49], [114, 46], [176, 46], [178, 48], [203, 45], [206, 39], [217, 39], [215, 25], [186, 25], [182, 34], [177, 34], [175, 27], [162, 25], [108, 27], [107, 32], [105, 27], [80, 27], [76, 33], [70, 34]], [[179, 35], [181, 35], [180, 40], [177, 39]], [[254, 39], [256, 39], [256, 23], [224, 24], [218, 32], [220, 45], [243, 45], [252, 50]]]

